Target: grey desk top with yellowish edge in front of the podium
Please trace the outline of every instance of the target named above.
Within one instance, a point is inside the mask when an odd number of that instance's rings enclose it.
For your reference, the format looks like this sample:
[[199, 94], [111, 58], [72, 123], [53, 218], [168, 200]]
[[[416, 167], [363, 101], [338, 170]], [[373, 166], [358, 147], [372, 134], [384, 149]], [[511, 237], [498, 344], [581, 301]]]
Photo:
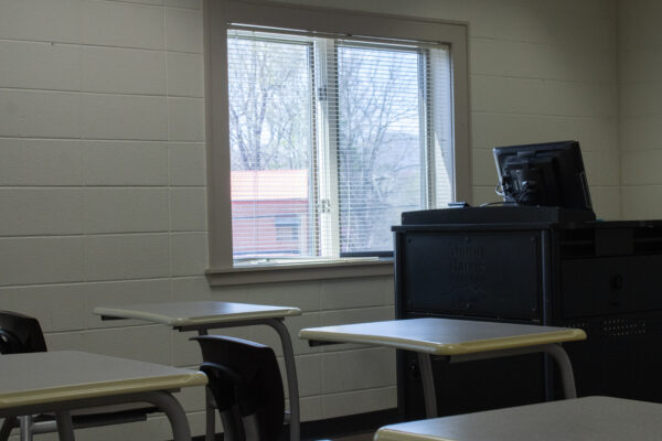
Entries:
[[460, 355], [585, 340], [581, 330], [451, 319], [407, 319], [309, 327], [300, 338]]

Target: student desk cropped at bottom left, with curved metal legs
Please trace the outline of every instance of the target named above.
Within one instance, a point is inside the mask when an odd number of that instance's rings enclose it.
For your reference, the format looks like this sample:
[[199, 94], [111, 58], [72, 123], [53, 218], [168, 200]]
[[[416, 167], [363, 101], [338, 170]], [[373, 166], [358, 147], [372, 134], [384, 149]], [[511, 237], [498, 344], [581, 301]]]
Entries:
[[75, 351], [0, 357], [0, 418], [55, 412], [57, 432], [74, 440], [68, 410], [149, 402], [163, 411], [174, 441], [190, 441], [189, 421], [171, 390], [205, 385], [196, 370]]

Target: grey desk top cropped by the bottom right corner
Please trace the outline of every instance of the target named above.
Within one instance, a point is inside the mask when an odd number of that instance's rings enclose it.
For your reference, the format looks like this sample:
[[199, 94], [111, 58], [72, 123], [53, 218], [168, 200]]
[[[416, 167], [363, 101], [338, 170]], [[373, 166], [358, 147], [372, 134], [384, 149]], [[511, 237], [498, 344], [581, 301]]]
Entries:
[[386, 426], [374, 441], [656, 441], [660, 421], [660, 404], [586, 397]]

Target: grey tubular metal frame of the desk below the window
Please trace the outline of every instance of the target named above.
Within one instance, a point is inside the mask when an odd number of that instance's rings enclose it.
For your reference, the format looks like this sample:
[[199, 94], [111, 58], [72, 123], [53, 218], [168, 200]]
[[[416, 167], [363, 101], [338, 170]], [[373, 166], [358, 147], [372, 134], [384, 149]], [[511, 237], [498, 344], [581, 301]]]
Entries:
[[[282, 346], [282, 356], [285, 358], [285, 370], [287, 375], [287, 388], [290, 402], [290, 441], [300, 440], [300, 410], [299, 410], [299, 386], [297, 380], [297, 366], [295, 364], [295, 351], [292, 348], [292, 341], [287, 326], [285, 325], [285, 318], [275, 319], [249, 319], [241, 320], [235, 322], [223, 322], [223, 323], [209, 323], [200, 325], [185, 325], [175, 326], [174, 329], [181, 332], [184, 331], [197, 331], [199, 335], [207, 335], [209, 330], [225, 329], [225, 327], [239, 327], [239, 326], [254, 326], [264, 324], [273, 327], [280, 337], [280, 344]], [[205, 388], [207, 389], [207, 388]], [[214, 407], [211, 406], [213, 397], [206, 392], [206, 433], [205, 441], [213, 441], [215, 437], [215, 419], [214, 419]]]

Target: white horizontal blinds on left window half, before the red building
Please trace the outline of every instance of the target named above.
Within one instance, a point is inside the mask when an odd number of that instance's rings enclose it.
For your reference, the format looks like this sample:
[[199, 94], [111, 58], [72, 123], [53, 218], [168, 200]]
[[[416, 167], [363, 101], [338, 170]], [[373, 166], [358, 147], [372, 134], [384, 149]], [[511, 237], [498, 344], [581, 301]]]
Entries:
[[311, 56], [306, 42], [228, 31], [235, 259], [316, 252]]

